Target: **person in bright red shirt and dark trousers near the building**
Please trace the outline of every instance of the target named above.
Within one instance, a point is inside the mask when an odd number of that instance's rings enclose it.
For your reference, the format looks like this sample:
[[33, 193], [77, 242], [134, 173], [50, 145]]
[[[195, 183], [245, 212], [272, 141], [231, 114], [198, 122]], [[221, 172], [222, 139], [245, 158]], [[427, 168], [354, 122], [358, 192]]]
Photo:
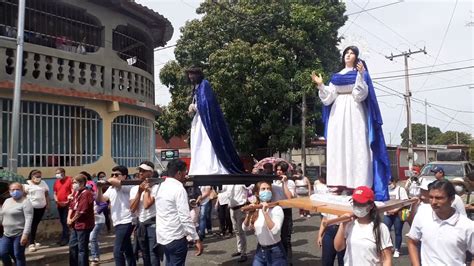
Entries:
[[67, 226], [67, 212], [69, 209], [68, 196], [72, 193], [72, 178], [66, 176], [63, 168], [56, 169], [56, 181], [54, 182], [54, 201], [58, 207], [59, 221], [63, 227], [61, 239], [58, 245], [65, 246], [69, 243], [69, 228]]

